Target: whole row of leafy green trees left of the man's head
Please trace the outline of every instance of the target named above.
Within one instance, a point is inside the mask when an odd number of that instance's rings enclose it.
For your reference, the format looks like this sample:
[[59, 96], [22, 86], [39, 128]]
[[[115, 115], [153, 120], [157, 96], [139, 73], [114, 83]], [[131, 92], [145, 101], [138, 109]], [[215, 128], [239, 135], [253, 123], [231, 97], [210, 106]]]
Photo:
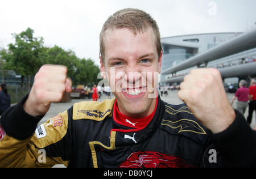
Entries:
[[[27, 28], [26, 31], [13, 34], [15, 43], [9, 44], [8, 50], [2, 50], [2, 59], [6, 59], [4, 69], [14, 70], [22, 76], [34, 76], [43, 64], [64, 65], [68, 67], [68, 77], [73, 84], [97, 84], [100, 68], [92, 59], [80, 59], [72, 50], [64, 50], [60, 46], [43, 46], [42, 37], [34, 37], [34, 30]], [[2, 62], [1, 62], [2, 65]], [[1, 70], [1, 69], [0, 69]], [[3, 71], [3, 69], [2, 69]]]

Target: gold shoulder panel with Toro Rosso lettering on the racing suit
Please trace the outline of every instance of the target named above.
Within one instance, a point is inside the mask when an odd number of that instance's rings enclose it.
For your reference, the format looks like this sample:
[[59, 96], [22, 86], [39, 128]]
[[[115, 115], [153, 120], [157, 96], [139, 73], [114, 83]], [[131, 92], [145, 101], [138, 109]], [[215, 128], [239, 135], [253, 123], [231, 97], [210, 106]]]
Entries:
[[102, 121], [106, 116], [112, 116], [115, 98], [111, 100], [84, 101], [73, 105], [73, 120], [88, 119]]

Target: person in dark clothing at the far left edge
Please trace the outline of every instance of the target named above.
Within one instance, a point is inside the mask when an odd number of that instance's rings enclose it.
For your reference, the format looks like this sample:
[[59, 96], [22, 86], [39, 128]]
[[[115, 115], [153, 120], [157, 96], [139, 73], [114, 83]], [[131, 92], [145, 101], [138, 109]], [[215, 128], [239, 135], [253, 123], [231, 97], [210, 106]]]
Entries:
[[2, 113], [10, 108], [11, 106], [11, 97], [7, 92], [7, 86], [5, 83], [0, 85], [0, 116]]

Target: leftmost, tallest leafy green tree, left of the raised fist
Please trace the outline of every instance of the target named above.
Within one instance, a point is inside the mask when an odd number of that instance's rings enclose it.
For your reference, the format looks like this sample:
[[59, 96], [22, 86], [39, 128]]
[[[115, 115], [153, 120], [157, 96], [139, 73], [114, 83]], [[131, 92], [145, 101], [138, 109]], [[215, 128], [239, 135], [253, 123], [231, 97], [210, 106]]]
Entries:
[[25, 76], [28, 76], [30, 86], [30, 77], [35, 75], [44, 63], [38, 58], [43, 47], [43, 38], [33, 35], [34, 30], [31, 28], [18, 35], [14, 33], [15, 43], [9, 44], [9, 49], [2, 51], [2, 58], [6, 59], [5, 69], [14, 70], [16, 74], [22, 76], [20, 86], [23, 86]]

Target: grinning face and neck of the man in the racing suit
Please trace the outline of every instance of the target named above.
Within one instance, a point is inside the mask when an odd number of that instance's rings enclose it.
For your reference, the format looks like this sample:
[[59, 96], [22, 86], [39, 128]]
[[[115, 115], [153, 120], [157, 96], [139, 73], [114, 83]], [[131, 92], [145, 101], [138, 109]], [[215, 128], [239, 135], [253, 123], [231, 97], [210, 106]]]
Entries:
[[154, 110], [161, 62], [152, 28], [136, 36], [128, 28], [106, 32], [101, 71], [108, 74], [121, 113], [138, 118]]

